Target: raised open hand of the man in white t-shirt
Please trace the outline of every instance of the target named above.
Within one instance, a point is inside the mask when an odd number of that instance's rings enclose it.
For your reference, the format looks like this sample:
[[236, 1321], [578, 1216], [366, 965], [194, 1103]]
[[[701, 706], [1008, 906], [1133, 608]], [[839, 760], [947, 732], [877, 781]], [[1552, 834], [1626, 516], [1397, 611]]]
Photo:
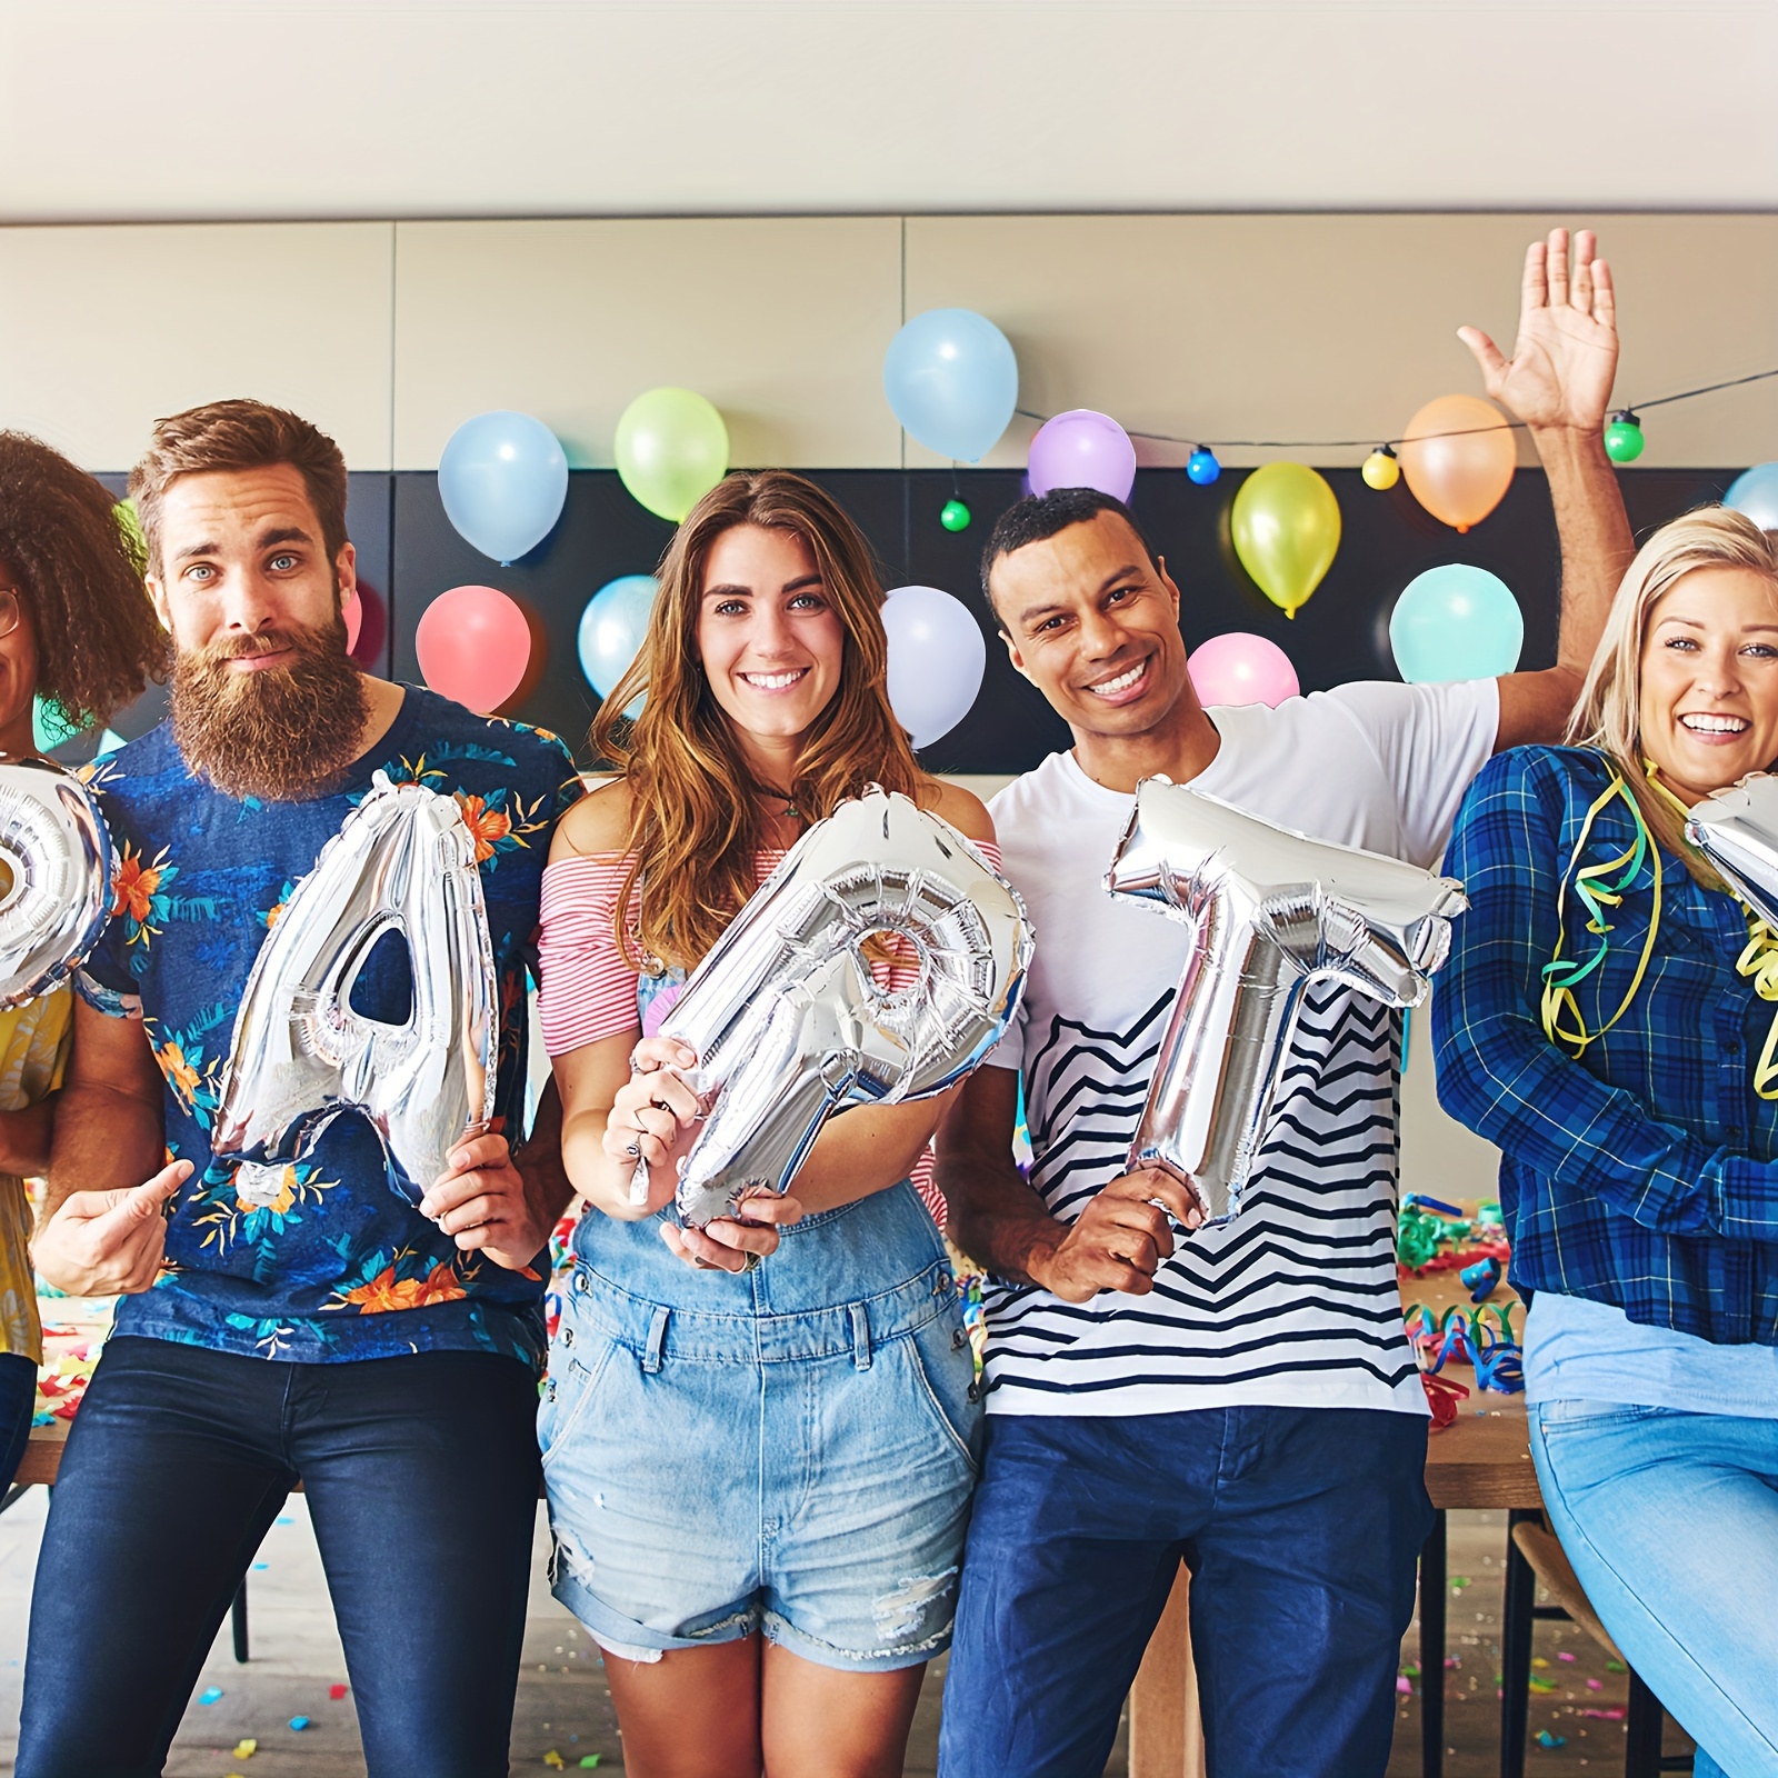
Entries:
[[1456, 336], [1476, 354], [1483, 386], [1527, 427], [1572, 427], [1595, 436], [1606, 425], [1618, 372], [1618, 315], [1611, 267], [1597, 256], [1591, 229], [1550, 229], [1526, 249], [1518, 340], [1513, 356], [1479, 327]]

